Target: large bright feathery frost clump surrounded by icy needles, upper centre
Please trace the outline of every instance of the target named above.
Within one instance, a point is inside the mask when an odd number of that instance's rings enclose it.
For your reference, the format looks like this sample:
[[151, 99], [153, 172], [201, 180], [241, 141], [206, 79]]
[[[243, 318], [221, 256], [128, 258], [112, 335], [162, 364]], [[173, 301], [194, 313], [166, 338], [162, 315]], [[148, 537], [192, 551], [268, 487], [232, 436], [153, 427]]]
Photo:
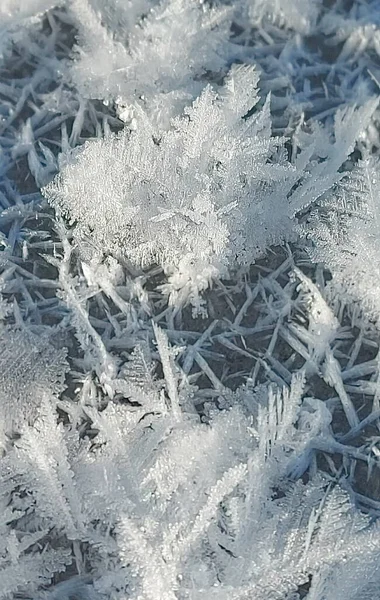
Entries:
[[45, 195], [94, 253], [116, 252], [139, 267], [158, 263], [173, 299], [182, 292], [196, 300], [288, 228], [287, 204], [275, 219], [265, 205], [294, 174], [276, 157], [281, 141], [271, 138], [268, 105], [243, 119], [257, 103], [257, 79], [252, 68], [234, 68], [219, 94], [206, 87], [168, 132], [156, 132], [141, 113], [136, 132], [65, 157]]

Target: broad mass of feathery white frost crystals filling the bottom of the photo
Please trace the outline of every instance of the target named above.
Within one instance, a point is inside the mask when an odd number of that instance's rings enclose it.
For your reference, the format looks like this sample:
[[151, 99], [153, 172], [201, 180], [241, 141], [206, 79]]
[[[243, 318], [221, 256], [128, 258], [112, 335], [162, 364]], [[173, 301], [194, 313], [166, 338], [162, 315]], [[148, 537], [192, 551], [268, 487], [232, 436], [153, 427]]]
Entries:
[[[156, 335], [164, 357], [170, 349], [162, 332]], [[172, 398], [179, 390], [168, 365], [164, 371]], [[361, 600], [358, 580], [371, 590], [378, 582], [378, 527], [327, 480], [286, 481], [326, 425], [323, 404], [315, 400], [310, 410], [302, 392], [302, 377], [294, 377], [290, 392], [268, 390], [256, 418], [235, 406], [214, 411], [208, 424], [178, 405], [174, 411], [157, 404], [149, 417], [141, 406], [88, 406], [98, 432], [93, 447], [77, 431], [65, 434], [45, 399], [34, 426], [3, 459], [0, 482], [9, 485], [12, 469], [12, 485], [28, 489], [17, 516], [25, 511], [26, 523], [39, 534], [44, 525], [56, 544], [63, 536], [74, 540], [79, 564], [79, 542], [86, 544], [90, 598], [95, 589], [103, 599], [115, 588], [133, 588], [136, 597], [152, 600], [186, 597], [189, 590], [202, 600], [253, 594], [264, 600], [279, 590], [281, 597], [294, 594], [312, 580], [309, 598], [319, 600], [332, 577], [346, 581], [355, 571], [349, 597]], [[23, 591], [27, 583], [36, 589], [27, 561], [38, 568], [52, 551], [31, 541], [24, 553], [27, 536], [21, 545], [15, 540], [23, 571], [8, 581], [12, 546], [3, 527], [1, 590]], [[59, 556], [50, 560], [58, 569]], [[79, 593], [83, 583], [74, 577], [56, 593], [65, 587]], [[1, 591], [0, 597], [7, 598]]]

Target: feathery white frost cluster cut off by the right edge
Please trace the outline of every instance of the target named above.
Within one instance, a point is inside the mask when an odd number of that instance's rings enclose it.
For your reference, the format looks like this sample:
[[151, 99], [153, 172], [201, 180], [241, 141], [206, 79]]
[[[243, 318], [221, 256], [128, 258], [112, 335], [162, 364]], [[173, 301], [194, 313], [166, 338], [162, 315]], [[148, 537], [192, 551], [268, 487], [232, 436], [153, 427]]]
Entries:
[[[307, 229], [315, 260], [333, 274], [342, 299], [359, 301], [367, 316], [379, 322], [380, 165], [367, 158], [326, 198], [322, 218]], [[325, 213], [325, 214], [324, 214]]]

